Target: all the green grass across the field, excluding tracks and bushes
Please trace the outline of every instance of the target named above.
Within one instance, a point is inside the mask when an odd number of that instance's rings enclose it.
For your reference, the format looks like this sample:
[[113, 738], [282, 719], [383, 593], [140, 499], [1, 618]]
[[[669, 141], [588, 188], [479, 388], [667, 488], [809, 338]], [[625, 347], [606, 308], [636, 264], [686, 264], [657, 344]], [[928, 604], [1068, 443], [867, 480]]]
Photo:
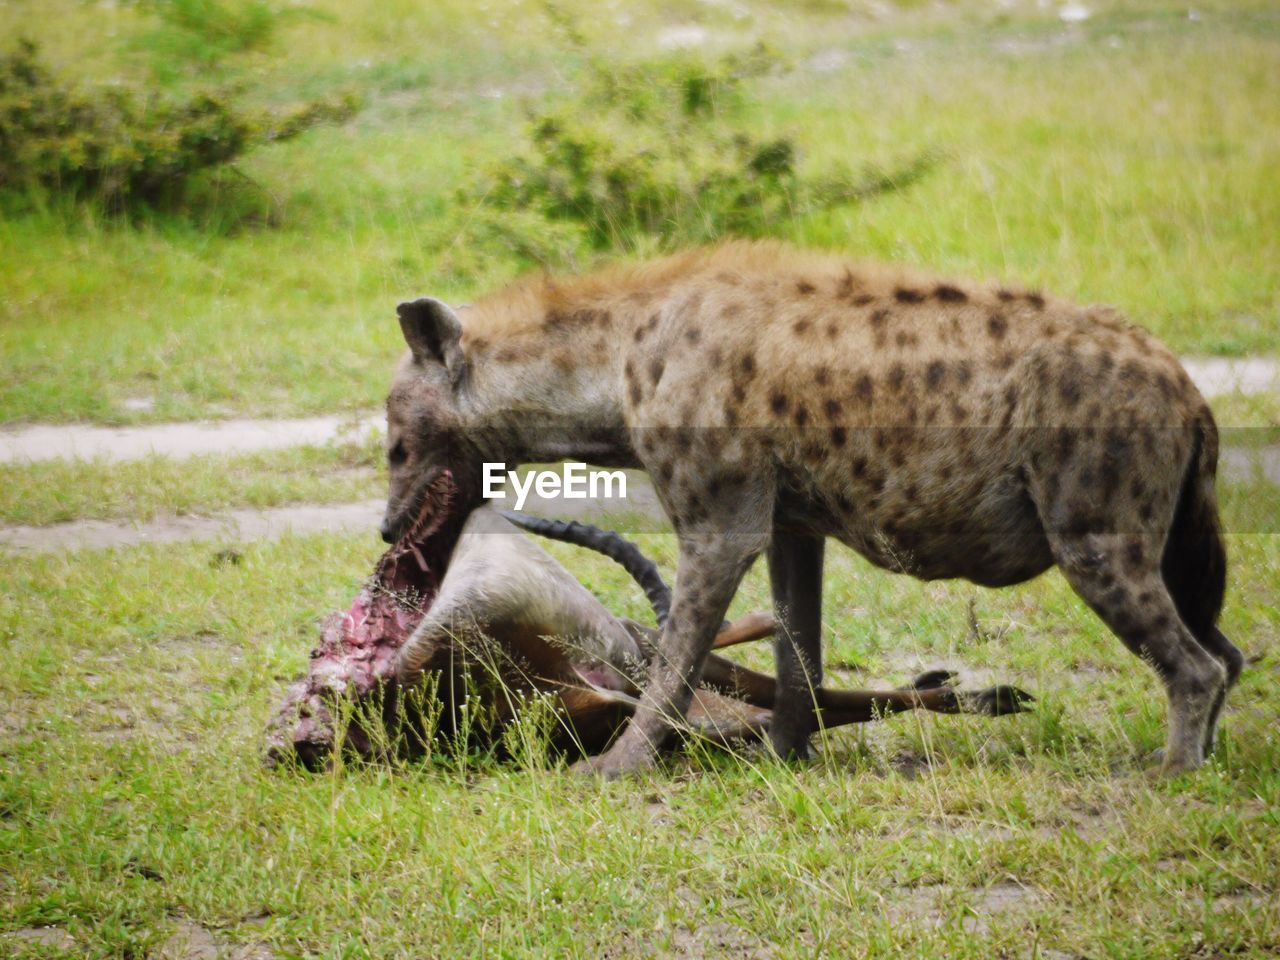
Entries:
[[[1184, 352], [1280, 340], [1280, 15], [1270, 3], [558, 5], [649, 60], [776, 46], [760, 136], [805, 169], [940, 157], [918, 183], [787, 224], [800, 243], [1120, 305]], [[457, 188], [581, 82], [541, 4], [337, 0], [198, 78], [152, 77], [145, 4], [0, 3], [0, 38], [70, 74], [288, 104], [355, 90], [340, 128], [255, 152], [193, 210], [60, 198], [0, 216], [0, 425], [365, 411], [393, 306], [525, 269], [456, 229]], [[590, 251], [580, 251], [589, 262]], [[1274, 444], [1274, 396], [1215, 399]], [[0, 465], [0, 522], [147, 521], [379, 495], [375, 445]], [[15, 957], [1280, 955], [1280, 489], [1224, 484], [1222, 628], [1249, 657], [1202, 772], [1149, 783], [1164, 696], [1057, 573], [984, 591], [832, 548], [838, 686], [932, 667], [1030, 713], [908, 714], [786, 767], [690, 745], [639, 781], [493, 758], [269, 772], [264, 727], [381, 544], [291, 538], [0, 553], [0, 955]], [[669, 536], [636, 539], [672, 573]], [[618, 614], [617, 567], [552, 552]], [[754, 570], [735, 612], [763, 609]], [[769, 668], [765, 648], [740, 655]], [[204, 952], [201, 952], [204, 951]]]

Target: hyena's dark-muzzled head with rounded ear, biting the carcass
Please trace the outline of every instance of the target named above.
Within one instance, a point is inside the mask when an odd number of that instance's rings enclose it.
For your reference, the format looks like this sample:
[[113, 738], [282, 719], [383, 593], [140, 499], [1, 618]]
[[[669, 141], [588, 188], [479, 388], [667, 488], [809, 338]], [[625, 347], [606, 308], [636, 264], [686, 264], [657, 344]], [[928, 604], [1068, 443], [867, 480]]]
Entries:
[[[480, 454], [460, 402], [466, 358], [462, 324], [430, 297], [396, 307], [408, 351], [387, 397], [389, 490], [381, 535], [394, 543], [417, 518], [428, 490], [448, 470], [468, 509], [479, 503]], [[471, 503], [470, 500], [475, 500]]]

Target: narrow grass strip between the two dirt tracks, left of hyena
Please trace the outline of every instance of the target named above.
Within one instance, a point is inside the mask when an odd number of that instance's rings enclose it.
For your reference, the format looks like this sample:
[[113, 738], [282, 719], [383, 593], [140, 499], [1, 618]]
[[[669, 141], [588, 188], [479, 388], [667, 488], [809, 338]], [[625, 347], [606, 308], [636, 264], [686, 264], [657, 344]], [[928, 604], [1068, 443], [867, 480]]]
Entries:
[[375, 499], [387, 494], [383, 467], [378, 444], [125, 463], [0, 463], [0, 522], [146, 521], [230, 507]]

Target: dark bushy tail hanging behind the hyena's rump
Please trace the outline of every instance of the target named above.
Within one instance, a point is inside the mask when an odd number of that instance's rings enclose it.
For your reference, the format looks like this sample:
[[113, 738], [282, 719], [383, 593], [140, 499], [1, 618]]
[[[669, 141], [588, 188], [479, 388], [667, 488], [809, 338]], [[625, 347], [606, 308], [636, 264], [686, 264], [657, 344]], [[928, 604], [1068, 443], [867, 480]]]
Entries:
[[1217, 428], [1206, 410], [1196, 424], [1192, 456], [1160, 571], [1183, 622], [1211, 652], [1226, 590], [1226, 548], [1213, 489], [1216, 474]]

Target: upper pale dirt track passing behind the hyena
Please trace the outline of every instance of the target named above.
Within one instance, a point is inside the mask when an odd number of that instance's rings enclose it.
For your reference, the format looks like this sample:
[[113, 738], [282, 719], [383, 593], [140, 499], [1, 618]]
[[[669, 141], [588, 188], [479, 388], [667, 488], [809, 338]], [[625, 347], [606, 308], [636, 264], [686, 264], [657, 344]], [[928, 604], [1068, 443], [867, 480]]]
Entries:
[[[1187, 371], [1208, 397], [1280, 392], [1280, 362], [1270, 357], [1185, 357]], [[28, 426], [0, 430], [0, 463], [44, 460], [124, 461], [161, 454], [192, 457], [358, 440], [383, 428], [380, 413], [302, 420], [223, 420], [155, 426]]]

